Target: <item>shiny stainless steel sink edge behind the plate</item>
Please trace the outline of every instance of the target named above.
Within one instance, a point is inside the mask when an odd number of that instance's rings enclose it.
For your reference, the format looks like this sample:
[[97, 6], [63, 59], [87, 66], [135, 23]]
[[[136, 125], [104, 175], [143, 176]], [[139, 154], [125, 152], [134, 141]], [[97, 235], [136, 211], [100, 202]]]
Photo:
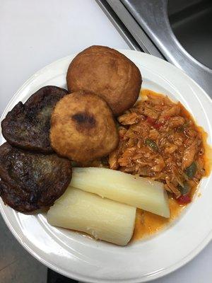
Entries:
[[[192, 57], [172, 32], [167, 15], [167, 0], [97, 0], [100, 6], [106, 3], [112, 8], [115, 16], [105, 9], [116, 26], [116, 18], [122, 22], [128, 33], [136, 40], [144, 52], [163, 57], [175, 64], [212, 96], [212, 70]], [[106, 4], [105, 4], [106, 5]], [[119, 28], [122, 34], [122, 28]], [[123, 34], [122, 34], [123, 36]], [[127, 33], [126, 42], [130, 42]], [[135, 49], [133, 45], [129, 46]]]

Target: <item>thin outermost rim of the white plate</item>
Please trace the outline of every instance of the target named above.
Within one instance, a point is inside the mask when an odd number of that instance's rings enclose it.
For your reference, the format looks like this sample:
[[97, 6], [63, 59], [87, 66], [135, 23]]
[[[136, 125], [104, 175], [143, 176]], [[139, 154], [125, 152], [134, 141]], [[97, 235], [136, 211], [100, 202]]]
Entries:
[[[199, 86], [198, 83], [196, 83], [196, 81], [194, 81], [192, 78], [190, 78], [186, 73], [184, 73], [184, 71], [182, 71], [181, 69], [175, 67], [174, 65], [170, 64], [169, 62], [166, 62], [163, 59], [160, 59], [158, 57], [154, 57], [151, 54], [146, 54], [143, 52], [138, 52], [135, 50], [122, 50], [122, 49], [117, 49], [119, 52], [122, 52], [124, 54], [138, 54], [140, 57], [144, 56], [144, 57], [151, 57], [152, 59], [154, 58], [154, 60], [158, 60], [158, 62], [163, 62], [163, 64], [167, 64], [169, 65], [169, 67], [171, 67], [172, 69], [175, 69], [175, 71], [179, 71], [179, 73], [183, 76], [186, 77], [186, 79], [188, 79], [189, 81], [192, 81], [192, 83], [195, 84], [195, 86], [197, 88], [200, 89], [200, 91], [203, 93], [203, 95], [205, 96], [205, 98], [208, 99], [208, 103], [212, 103], [212, 99], [210, 96], [208, 96], [208, 94], [204, 91], [203, 88], [201, 88], [201, 86]], [[45, 71], [45, 69], [49, 69], [49, 67], [51, 67], [51, 65], [54, 65], [56, 63], [62, 62], [66, 59], [69, 59], [69, 57], [73, 57], [76, 56], [76, 54], [71, 54], [69, 56], [66, 57], [62, 57], [61, 59], [58, 59], [50, 64], [47, 64], [47, 66], [43, 67], [42, 69], [38, 70], [35, 72], [35, 74], [33, 74], [33, 76], [30, 76], [30, 78], [25, 81], [25, 83], [23, 83], [22, 86], [20, 86], [20, 88], [18, 88], [18, 91], [16, 91], [16, 93], [14, 94], [14, 96], [11, 98], [11, 100], [9, 100], [8, 104], [6, 105], [6, 108], [4, 109], [4, 112], [1, 115], [1, 120], [3, 119], [3, 117], [5, 117], [6, 112], [8, 111], [7, 109], [9, 108], [9, 106], [11, 105], [11, 103], [13, 103], [13, 100], [16, 100], [17, 96], [19, 95], [19, 93], [22, 91], [23, 88], [25, 88], [25, 86], [28, 85], [28, 83], [30, 83], [30, 81], [33, 81], [36, 76], [38, 74], [41, 74], [42, 71]], [[1, 132], [0, 132], [1, 134]], [[36, 258], [37, 260], [39, 260], [40, 262], [42, 262], [42, 264], [46, 265], [47, 267], [51, 268], [52, 270], [59, 272], [61, 275], [64, 275], [66, 277], [70, 277], [71, 274], [71, 278], [76, 279], [76, 280], [81, 280], [83, 282], [90, 282], [90, 283], [94, 283], [94, 282], [104, 282], [104, 283], [109, 283], [112, 282], [110, 279], [95, 279], [95, 278], [86, 278], [84, 276], [79, 275], [78, 273], [74, 273], [74, 272], [70, 272], [70, 274], [68, 274], [68, 272], [64, 272], [62, 270], [60, 270], [57, 267], [54, 267], [54, 265], [52, 265], [51, 263], [47, 262], [45, 259], [41, 258], [37, 252], [33, 251], [30, 249], [30, 247], [28, 246], [28, 243], [24, 243], [23, 239], [21, 239], [21, 237], [18, 235], [18, 233], [16, 233], [15, 229], [13, 228], [13, 226], [11, 225], [10, 221], [8, 220], [6, 213], [4, 212], [4, 209], [2, 209], [1, 203], [0, 203], [0, 212], [1, 212], [1, 216], [3, 217], [6, 225], [8, 226], [8, 229], [11, 231], [11, 233], [13, 233], [13, 236], [15, 236], [15, 238], [18, 240], [18, 242], [21, 244], [21, 246], [23, 246], [23, 248], [25, 248], [25, 250], [27, 250], [31, 255], [33, 255], [34, 258]], [[180, 262], [175, 263], [174, 265], [171, 265], [170, 267], [166, 267], [164, 270], [161, 270], [159, 272], [155, 272], [153, 275], [146, 277], [145, 280], [142, 280], [138, 278], [138, 280], [136, 279], [126, 279], [126, 282], [148, 282], [151, 281], [153, 279], [156, 278], [160, 278], [163, 277], [167, 274], [170, 274], [171, 272], [174, 272], [175, 270], [179, 269], [180, 267], [182, 267], [183, 265], [187, 264], [190, 260], [192, 260], [194, 257], [196, 257], [196, 255], [198, 255], [201, 250], [203, 250], [208, 243], [212, 240], [212, 226], [211, 226], [211, 231], [205, 236], [204, 240], [199, 244], [199, 246], [196, 246], [196, 248], [194, 250], [192, 250], [191, 253], [189, 253], [189, 255], [187, 255], [186, 257], [184, 257]], [[91, 280], [92, 279], [92, 280]], [[112, 279], [113, 282], [120, 282], [119, 279]], [[123, 280], [122, 280], [123, 282]]]

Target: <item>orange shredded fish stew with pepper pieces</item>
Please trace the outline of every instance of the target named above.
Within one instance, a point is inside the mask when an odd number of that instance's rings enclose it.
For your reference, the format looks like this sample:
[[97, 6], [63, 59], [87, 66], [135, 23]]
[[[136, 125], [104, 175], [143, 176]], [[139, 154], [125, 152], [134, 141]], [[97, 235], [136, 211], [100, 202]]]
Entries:
[[202, 132], [181, 103], [148, 90], [143, 97], [118, 117], [120, 141], [110, 168], [158, 180], [187, 204], [205, 175]]

